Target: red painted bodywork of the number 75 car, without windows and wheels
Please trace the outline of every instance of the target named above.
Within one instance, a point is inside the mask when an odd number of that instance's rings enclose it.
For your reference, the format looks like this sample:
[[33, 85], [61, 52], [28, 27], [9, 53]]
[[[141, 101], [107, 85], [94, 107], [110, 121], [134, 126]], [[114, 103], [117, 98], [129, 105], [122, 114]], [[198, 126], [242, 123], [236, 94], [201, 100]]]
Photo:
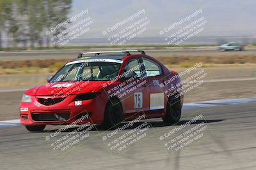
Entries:
[[[164, 90], [170, 88], [171, 83], [166, 83], [163, 88], [160, 88], [159, 85], [156, 85], [156, 81], [158, 83], [164, 83], [166, 80], [169, 80], [170, 77], [177, 74], [174, 71], [169, 71], [161, 62], [150, 57], [148, 55], [143, 54], [133, 54], [127, 55], [124, 57], [122, 65], [120, 67], [120, 71], [118, 74], [122, 74], [122, 69], [124, 68], [125, 64], [132, 59], [139, 59], [143, 57], [144, 59], [151, 60], [158, 64], [161, 67], [161, 75], [158, 76], [151, 76], [145, 78], [147, 83], [142, 87], [136, 89], [137, 92], [143, 92], [143, 107], [142, 108], [134, 108], [134, 96], [125, 96], [125, 97], [118, 97], [120, 99], [120, 103], [122, 104], [122, 110], [124, 113], [124, 119], [129, 118], [136, 118], [138, 115], [134, 115], [134, 113], [138, 113], [141, 110], [145, 113], [147, 118], [159, 118], [164, 117], [166, 114], [166, 103], [167, 97], [164, 94], [164, 108], [159, 108], [157, 110], [150, 109], [150, 94], [159, 94], [164, 93]], [[34, 87], [32, 89], [27, 90], [24, 94], [31, 96], [31, 103], [24, 103], [20, 102], [20, 108], [28, 108], [28, 110], [20, 111], [20, 124], [22, 125], [60, 125], [60, 124], [70, 124], [77, 120], [77, 115], [80, 113], [90, 113], [90, 118], [83, 120], [79, 124], [86, 124], [87, 122], [91, 122], [92, 124], [100, 124], [104, 120], [104, 111], [106, 108], [106, 104], [109, 101], [109, 96], [107, 91], [112, 89], [116, 85], [122, 83], [120, 79], [112, 81], [108, 83], [106, 81], [77, 81], [74, 82], [72, 85], [73, 90], [65, 90], [68, 87], [61, 87], [58, 90], [56, 88], [52, 88], [52, 86], [56, 84], [65, 84], [67, 82], [58, 82], [58, 83], [46, 83], [45, 85], [41, 85], [39, 87]], [[172, 84], [180, 83], [180, 78], [177, 78], [172, 81]], [[102, 87], [103, 84], [107, 84], [106, 87]], [[61, 91], [62, 90], [62, 91]], [[173, 89], [175, 90], [175, 89]], [[172, 91], [173, 91], [172, 90]], [[68, 95], [67, 95], [68, 91]], [[84, 93], [97, 93], [97, 96], [93, 99], [88, 99], [82, 101], [81, 106], [75, 106], [74, 99], [79, 94]], [[67, 95], [67, 96], [66, 96]], [[63, 101], [59, 103], [45, 106], [45, 104], [39, 103], [39, 99], [56, 99], [58, 97], [62, 97]], [[183, 99], [183, 96], [180, 95], [180, 100]], [[46, 101], [47, 103], [47, 101]], [[70, 114], [68, 120], [54, 120], [54, 121], [38, 121], [33, 120], [33, 116], [38, 115], [45, 115], [45, 114]], [[132, 116], [134, 115], [134, 116]], [[132, 117], [131, 117], [132, 116]]]

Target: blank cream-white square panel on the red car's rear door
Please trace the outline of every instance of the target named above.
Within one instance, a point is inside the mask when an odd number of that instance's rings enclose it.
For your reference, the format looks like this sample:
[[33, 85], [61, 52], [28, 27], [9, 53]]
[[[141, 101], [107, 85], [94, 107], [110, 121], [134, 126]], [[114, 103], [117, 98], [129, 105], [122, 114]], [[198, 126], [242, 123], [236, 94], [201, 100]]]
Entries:
[[164, 94], [150, 94], [150, 110], [159, 110], [164, 108]]

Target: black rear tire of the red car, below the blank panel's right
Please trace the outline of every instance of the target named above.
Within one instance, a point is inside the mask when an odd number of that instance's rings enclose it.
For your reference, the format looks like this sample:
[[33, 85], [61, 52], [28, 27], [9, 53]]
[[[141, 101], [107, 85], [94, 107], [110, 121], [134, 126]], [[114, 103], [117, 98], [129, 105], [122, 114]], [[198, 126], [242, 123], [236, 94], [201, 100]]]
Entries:
[[176, 98], [174, 96], [169, 97], [168, 102], [166, 104], [166, 114], [163, 117], [164, 123], [172, 124], [177, 123], [180, 120], [181, 116], [181, 103], [180, 98]]

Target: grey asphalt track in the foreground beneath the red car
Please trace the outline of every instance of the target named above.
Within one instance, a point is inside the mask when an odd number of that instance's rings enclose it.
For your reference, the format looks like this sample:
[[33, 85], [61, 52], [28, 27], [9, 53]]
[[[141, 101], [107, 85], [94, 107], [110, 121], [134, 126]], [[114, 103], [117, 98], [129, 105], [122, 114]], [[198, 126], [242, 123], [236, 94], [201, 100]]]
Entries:
[[[204, 122], [207, 125], [204, 136], [189, 147], [166, 150], [159, 136], [186, 124], [195, 113], [201, 113], [204, 118], [189, 128]], [[45, 139], [47, 131], [57, 127], [48, 126], [45, 132], [38, 133], [30, 133], [22, 126], [2, 128], [0, 169], [255, 169], [255, 114], [255, 103], [220, 104], [184, 110], [181, 122], [176, 125], [151, 119], [146, 121], [152, 125], [147, 136], [125, 152], [111, 151], [102, 141], [102, 136], [111, 131], [100, 127], [92, 129], [88, 139], [65, 152], [53, 151]], [[134, 125], [141, 124], [145, 122]], [[118, 133], [125, 134], [131, 129]], [[73, 130], [61, 132], [61, 136]]]

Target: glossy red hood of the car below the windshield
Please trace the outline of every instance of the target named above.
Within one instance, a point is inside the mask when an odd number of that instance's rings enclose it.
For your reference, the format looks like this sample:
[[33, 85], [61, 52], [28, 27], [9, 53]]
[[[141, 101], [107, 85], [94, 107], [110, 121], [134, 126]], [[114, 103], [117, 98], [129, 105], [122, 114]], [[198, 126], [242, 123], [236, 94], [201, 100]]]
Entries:
[[81, 94], [85, 92], [98, 92], [102, 89], [102, 85], [106, 81], [74, 81], [74, 82], [58, 82], [46, 83], [38, 87], [34, 87], [25, 92], [30, 96], [48, 96], [48, 95], [70, 95]]

